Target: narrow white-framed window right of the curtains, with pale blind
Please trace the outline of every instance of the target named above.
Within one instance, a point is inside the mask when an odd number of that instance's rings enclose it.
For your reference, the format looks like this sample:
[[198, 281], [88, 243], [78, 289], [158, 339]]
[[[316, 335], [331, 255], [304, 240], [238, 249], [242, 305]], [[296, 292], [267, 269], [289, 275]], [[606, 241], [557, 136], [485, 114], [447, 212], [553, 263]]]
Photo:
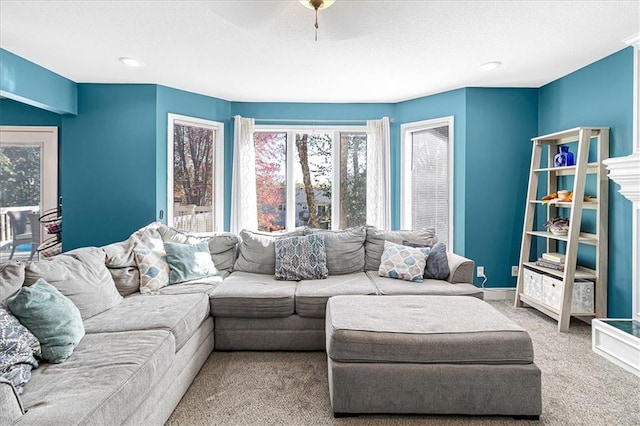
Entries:
[[401, 126], [402, 229], [435, 228], [448, 248], [453, 242], [453, 117]]

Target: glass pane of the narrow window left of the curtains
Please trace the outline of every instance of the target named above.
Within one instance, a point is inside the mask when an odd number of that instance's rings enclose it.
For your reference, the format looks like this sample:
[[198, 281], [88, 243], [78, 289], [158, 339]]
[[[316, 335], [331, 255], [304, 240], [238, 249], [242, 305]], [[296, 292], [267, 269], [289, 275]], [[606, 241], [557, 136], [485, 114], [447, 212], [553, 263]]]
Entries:
[[173, 226], [211, 232], [215, 130], [176, 123], [173, 132]]

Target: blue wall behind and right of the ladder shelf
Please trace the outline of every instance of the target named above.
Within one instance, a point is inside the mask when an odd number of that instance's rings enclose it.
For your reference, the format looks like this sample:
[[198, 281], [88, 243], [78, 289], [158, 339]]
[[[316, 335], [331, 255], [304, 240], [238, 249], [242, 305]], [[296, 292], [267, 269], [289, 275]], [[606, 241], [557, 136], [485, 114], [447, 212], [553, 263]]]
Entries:
[[[633, 48], [543, 86], [538, 133], [578, 126], [609, 127], [609, 156], [633, 152]], [[632, 205], [609, 183], [608, 316], [631, 316]]]

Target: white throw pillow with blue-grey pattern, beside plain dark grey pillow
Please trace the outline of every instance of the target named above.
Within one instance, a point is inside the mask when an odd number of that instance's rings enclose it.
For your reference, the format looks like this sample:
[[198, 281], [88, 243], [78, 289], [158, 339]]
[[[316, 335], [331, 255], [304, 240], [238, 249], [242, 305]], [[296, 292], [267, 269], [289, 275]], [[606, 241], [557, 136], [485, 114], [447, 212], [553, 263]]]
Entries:
[[422, 282], [429, 250], [384, 242], [378, 275], [405, 281]]

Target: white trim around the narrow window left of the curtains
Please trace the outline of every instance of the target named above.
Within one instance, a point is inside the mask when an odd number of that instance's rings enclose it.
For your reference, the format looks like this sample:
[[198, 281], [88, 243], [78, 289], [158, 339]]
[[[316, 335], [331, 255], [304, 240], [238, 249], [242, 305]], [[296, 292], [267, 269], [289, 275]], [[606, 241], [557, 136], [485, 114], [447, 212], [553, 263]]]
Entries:
[[192, 125], [214, 131], [213, 175], [213, 230], [224, 230], [224, 124], [218, 121], [167, 114], [167, 224], [173, 223], [173, 127], [174, 124]]

